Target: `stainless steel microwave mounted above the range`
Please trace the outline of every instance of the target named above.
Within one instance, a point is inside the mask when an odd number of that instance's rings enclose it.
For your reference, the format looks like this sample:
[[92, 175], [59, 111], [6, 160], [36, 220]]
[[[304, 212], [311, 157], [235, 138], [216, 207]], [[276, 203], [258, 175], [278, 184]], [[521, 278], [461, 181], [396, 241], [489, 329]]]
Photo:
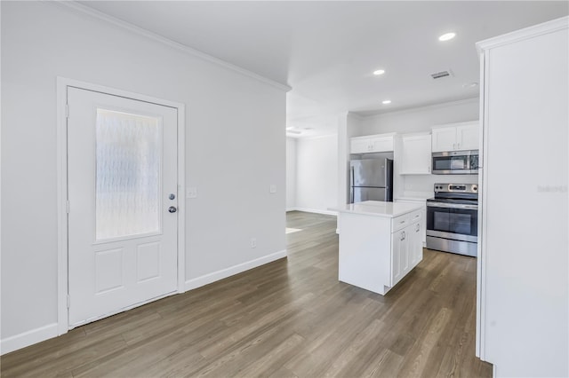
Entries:
[[431, 172], [435, 175], [476, 175], [478, 150], [433, 153]]

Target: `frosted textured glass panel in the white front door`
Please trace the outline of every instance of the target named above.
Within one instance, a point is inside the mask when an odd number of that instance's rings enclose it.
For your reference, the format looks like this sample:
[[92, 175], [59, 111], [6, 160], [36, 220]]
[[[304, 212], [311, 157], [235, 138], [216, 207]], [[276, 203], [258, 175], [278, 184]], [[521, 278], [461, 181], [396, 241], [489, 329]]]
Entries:
[[161, 232], [162, 120], [97, 109], [96, 240]]

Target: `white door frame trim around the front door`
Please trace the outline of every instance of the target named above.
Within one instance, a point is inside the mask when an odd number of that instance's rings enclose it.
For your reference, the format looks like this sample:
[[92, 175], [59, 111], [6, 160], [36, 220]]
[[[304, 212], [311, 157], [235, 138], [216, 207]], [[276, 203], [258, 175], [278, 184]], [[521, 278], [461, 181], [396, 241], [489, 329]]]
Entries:
[[[67, 133], [67, 89], [76, 87], [88, 91], [99, 91], [110, 95], [133, 98], [157, 105], [170, 106], [178, 110], [178, 293], [185, 287], [185, 106], [162, 98], [153, 98], [129, 91], [121, 91], [93, 83], [80, 82], [58, 76], [57, 78], [57, 177], [58, 177], [58, 278], [57, 278], [57, 321], [58, 335], [68, 332], [68, 133]], [[172, 294], [168, 294], [172, 295]], [[167, 295], [164, 295], [167, 296]], [[156, 299], [154, 299], [156, 300]]]

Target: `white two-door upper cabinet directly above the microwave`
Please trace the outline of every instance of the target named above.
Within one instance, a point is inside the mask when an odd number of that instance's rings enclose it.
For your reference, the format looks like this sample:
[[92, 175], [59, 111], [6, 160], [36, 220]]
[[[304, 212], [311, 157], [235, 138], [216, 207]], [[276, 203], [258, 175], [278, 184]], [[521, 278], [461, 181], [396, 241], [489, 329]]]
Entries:
[[463, 122], [433, 128], [432, 152], [478, 149], [478, 122]]

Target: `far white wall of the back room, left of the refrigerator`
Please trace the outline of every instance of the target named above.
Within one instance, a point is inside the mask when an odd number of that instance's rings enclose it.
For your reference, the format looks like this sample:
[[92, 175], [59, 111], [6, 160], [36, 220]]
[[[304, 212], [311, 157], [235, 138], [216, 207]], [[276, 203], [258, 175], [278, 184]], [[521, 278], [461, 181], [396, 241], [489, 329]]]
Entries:
[[330, 135], [297, 140], [296, 208], [335, 214], [338, 199], [338, 138]]

